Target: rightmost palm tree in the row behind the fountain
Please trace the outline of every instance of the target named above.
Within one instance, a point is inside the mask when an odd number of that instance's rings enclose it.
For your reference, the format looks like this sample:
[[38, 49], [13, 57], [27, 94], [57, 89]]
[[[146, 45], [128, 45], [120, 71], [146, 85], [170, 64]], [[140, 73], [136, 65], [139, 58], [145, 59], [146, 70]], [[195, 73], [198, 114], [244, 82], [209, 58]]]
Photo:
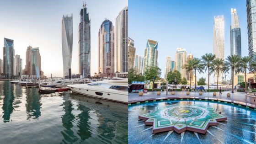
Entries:
[[249, 63], [251, 62], [250, 56], [244, 56], [240, 60], [240, 68], [238, 69], [239, 72], [244, 73], [245, 75], [245, 91], [247, 90], [247, 79], [246, 79], [246, 70], [249, 70], [249, 67], [251, 66]]

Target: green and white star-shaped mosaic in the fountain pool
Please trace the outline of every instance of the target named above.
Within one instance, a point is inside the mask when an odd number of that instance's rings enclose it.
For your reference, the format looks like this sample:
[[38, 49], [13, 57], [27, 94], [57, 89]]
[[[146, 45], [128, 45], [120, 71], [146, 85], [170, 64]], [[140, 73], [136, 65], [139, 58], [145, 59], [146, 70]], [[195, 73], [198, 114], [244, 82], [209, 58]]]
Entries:
[[174, 130], [182, 133], [186, 130], [206, 133], [208, 126], [216, 126], [217, 122], [227, 117], [221, 115], [212, 107], [200, 105], [174, 104], [165, 107], [155, 107], [155, 110], [139, 116], [146, 125], [153, 125], [152, 133]]

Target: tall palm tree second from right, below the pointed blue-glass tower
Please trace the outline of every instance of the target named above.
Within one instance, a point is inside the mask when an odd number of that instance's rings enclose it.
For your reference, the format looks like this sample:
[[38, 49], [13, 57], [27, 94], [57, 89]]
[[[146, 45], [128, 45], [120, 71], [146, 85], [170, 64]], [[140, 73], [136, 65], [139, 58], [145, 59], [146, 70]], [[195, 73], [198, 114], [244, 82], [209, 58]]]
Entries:
[[226, 59], [226, 64], [231, 67], [231, 73], [232, 73], [232, 93], [234, 93], [234, 73], [238, 72], [240, 67], [240, 59], [241, 57], [238, 55], [231, 55], [228, 56]]

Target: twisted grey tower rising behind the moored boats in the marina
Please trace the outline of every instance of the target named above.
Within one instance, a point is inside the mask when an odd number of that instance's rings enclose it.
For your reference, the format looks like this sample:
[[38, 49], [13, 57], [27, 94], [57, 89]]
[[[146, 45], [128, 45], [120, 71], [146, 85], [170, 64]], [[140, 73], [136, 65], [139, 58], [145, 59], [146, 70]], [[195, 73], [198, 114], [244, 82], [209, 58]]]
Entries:
[[63, 77], [71, 78], [71, 61], [73, 48], [73, 15], [62, 17], [62, 58]]

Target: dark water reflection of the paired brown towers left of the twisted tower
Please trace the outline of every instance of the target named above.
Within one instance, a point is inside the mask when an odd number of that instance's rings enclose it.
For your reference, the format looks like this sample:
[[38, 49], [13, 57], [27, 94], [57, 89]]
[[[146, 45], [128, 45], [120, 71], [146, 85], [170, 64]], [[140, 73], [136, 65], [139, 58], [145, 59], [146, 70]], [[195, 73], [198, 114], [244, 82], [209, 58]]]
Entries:
[[36, 88], [30, 88], [26, 91], [26, 112], [27, 119], [38, 119], [41, 116], [41, 96]]

